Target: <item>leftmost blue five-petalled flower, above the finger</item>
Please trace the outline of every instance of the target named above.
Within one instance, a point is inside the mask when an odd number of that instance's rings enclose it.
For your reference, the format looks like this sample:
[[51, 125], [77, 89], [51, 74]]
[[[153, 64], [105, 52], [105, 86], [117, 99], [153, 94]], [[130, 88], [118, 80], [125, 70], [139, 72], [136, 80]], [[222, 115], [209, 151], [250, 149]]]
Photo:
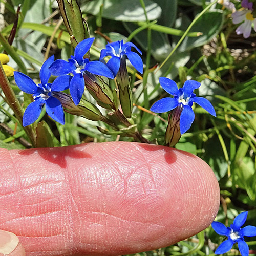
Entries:
[[51, 76], [49, 66], [53, 63], [54, 56], [45, 61], [40, 70], [41, 83], [36, 84], [30, 77], [20, 72], [14, 72], [15, 82], [20, 90], [32, 94], [34, 101], [30, 103], [24, 112], [23, 126], [27, 126], [36, 121], [39, 117], [42, 106], [46, 104], [46, 112], [54, 120], [65, 124], [65, 116], [58, 99], [51, 95], [52, 91], [58, 92], [69, 88], [71, 76], [59, 76], [53, 83], [48, 83]]

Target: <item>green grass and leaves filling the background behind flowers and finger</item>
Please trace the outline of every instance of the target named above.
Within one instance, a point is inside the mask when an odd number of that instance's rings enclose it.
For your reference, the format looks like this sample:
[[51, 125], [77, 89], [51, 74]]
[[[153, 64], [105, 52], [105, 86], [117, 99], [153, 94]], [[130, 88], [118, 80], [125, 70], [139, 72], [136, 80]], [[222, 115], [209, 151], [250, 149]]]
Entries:
[[[18, 31], [12, 45], [14, 51], [9, 53], [12, 57], [10, 66], [38, 79], [40, 66], [48, 56], [55, 54], [56, 58], [68, 59], [73, 47], [63, 23], [55, 29], [61, 19], [55, 1], [1, 2], [5, 5], [5, 21], [1, 28], [3, 37], [8, 37], [15, 10], [18, 4], [22, 4]], [[174, 79], [180, 87], [186, 79], [201, 82], [197, 94], [211, 101], [217, 118], [195, 106], [195, 122], [181, 137], [176, 148], [198, 155], [214, 170], [222, 198], [217, 220], [231, 223], [239, 212], [249, 210], [246, 224], [256, 225], [255, 34], [248, 39], [237, 36], [230, 11], [219, 4], [212, 5], [197, 18], [209, 5], [209, 2], [203, 0], [92, 0], [79, 3], [91, 36], [96, 37], [91, 50], [92, 60], [99, 58], [100, 50], [106, 44], [105, 39], [95, 31], [100, 31], [113, 41], [133, 41], [143, 51], [143, 80], [133, 69], [130, 69], [130, 75], [134, 81], [134, 103], [140, 106], [134, 107], [133, 121], [147, 139], [164, 144], [167, 124], [159, 116], [141, 109], [148, 110], [156, 100], [167, 96], [159, 85], [159, 77]], [[195, 24], [176, 49], [182, 34], [195, 18]], [[195, 36], [198, 32], [202, 34]], [[50, 52], [46, 54], [49, 44]], [[4, 49], [7, 50], [2, 41], [1, 52]], [[168, 58], [170, 53], [172, 55]], [[152, 69], [155, 65], [158, 67]], [[31, 102], [30, 97], [25, 95], [23, 99], [13, 78], [10, 78], [10, 82], [25, 109]], [[89, 93], [85, 92], [85, 95], [94, 101]], [[163, 113], [160, 116], [167, 120], [167, 115]], [[48, 134], [49, 146], [117, 139], [132, 141], [127, 137], [119, 138], [117, 133], [100, 133], [97, 126], [105, 127], [102, 122], [67, 113], [65, 125], [54, 122], [45, 112], [42, 112], [39, 120], [46, 121], [40, 129]], [[2, 130], [0, 146], [24, 147], [17, 138], [28, 139], [25, 131], [2, 98], [0, 121], [12, 130], [17, 129], [14, 136]], [[214, 255], [213, 249], [222, 239], [209, 227], [198, 237], [136, 255]], [[255, 242], [248, 244], [250, 249], [256, 249]], [[228, 255], [238, 255], [237, 247], [234, 248]]]

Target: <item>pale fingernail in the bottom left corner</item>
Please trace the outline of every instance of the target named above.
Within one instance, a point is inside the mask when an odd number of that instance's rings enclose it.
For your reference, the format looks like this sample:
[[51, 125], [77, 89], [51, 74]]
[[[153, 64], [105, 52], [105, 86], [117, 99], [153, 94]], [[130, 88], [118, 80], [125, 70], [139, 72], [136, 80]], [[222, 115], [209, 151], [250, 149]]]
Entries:
[[8, 231], [0, 230], [0, 253], [10, 254], [18, 245], [18, 237]]

